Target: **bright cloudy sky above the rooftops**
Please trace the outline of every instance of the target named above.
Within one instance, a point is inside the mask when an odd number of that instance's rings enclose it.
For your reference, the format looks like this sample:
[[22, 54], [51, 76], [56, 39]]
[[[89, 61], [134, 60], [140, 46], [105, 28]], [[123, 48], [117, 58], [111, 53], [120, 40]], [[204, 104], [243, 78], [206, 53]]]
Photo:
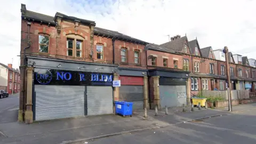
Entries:
[[228, 46], [256, 59], [256, 0], [3, 0], [0, 5], [0, 62], [20, 65], [21, 3], [27, 10], [56, 12], [96, 22], [149, 43], [162, 44], [175, 35], [197, 37], [201, 48]]

